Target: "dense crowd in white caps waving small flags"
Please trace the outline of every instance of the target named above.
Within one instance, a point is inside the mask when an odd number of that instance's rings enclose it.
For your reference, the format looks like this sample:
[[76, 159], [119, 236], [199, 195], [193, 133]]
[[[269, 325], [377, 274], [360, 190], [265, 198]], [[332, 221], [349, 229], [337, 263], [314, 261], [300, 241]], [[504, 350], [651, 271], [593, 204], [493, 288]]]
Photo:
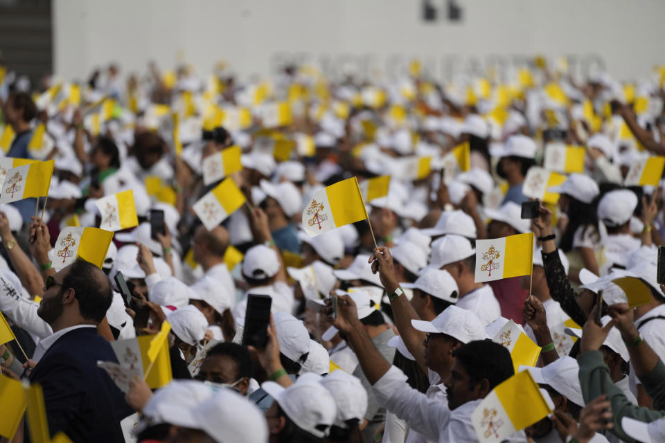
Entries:
[[[308, 64], [260, 81], [222, 62], [39, 85], [0, 70], [1, 153], [55, 160], [48, 197], [0, 207], [0, 311], [16, 337], [0, 345], [3, 377], [39, 383], [49, 433], [73, 442], [495, 441], [472, 414], [515, 374], [493, 340], [513, 320], [541, 348], [519, 370], [553, 412], [504, 441], [663, 442], [662, 166], [656, 183], [640, 174], [665, 155], [664, 81], [662, 68], [575, 80], [540, 57], [451, 82], [416, 61], [390, 81]], [[206, 159], [235, 146], [247, 203], [209, 229], [193, 210], [222, 180], [204, 179]], [[543, 188], [527, 180], [539, 168], [565, 177]], [[305, 233], [314, 193], [384, 176], [367, 220]], [[95, 202], [130, 189], [139, 224], [101, 268], [60, 266], [60, 231], [99, 227]], [[477, 240], [531, 232], [533, 257], [511, 257], [531, 275], [479, 282]], [[612, 282], [624, 276], [646, 302], [628, 305]], [[272, 301], [265, 347], [243, 344], [249, 295]], [[168, 383], [123, 386], [98, 364], [165, 322]], [[3, 439], [29, 441], [28, 425]]]

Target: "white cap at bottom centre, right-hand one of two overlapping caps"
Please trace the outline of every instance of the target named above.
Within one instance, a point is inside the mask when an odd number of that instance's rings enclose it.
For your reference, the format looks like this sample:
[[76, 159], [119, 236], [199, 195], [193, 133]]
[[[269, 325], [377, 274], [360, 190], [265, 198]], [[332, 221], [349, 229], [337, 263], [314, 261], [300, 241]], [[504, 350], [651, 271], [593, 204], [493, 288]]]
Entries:
[[362, 419], [367, 412], [367, 391], [363, 388], [360, 379], [343, 370], [336, 370], [323, 377], [319, 383], [330, 392], [337, 406], [335, 426], [346, 428], [346, 422], [351, 419]]

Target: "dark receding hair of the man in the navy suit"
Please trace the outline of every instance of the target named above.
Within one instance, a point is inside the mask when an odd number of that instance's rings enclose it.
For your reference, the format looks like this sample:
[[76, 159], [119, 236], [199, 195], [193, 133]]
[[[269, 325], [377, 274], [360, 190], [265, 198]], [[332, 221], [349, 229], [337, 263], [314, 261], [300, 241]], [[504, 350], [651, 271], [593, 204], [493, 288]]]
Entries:
[[64, 276], [60, 291], [69, 288], [74, 290], [83, 318], [95, 323], [103, 320], [113, 301], [113, 291], [101, 269], [85, 260], [76, 260]]

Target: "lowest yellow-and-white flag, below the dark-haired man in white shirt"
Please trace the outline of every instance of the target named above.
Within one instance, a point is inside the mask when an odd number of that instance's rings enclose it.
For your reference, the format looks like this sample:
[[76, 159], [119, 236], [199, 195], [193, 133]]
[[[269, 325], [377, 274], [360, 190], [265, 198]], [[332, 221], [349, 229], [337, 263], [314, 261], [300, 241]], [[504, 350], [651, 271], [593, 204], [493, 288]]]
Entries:
[[552, 412], [550, 402], [529, 371], [518, 372], [480, 402], [471, 422], [480, 442], [499, 443], [547, 417]]

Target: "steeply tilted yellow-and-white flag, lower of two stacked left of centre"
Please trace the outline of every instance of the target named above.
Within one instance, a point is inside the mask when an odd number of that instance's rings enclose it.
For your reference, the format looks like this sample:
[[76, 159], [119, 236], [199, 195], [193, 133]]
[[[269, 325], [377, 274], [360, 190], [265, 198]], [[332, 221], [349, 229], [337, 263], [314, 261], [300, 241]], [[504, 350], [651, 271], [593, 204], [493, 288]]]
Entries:
[[245, 204], [245, 195], [229, 178], [201, 197], [193, 209], [206, 229], [211, 230], [243, 204]]

